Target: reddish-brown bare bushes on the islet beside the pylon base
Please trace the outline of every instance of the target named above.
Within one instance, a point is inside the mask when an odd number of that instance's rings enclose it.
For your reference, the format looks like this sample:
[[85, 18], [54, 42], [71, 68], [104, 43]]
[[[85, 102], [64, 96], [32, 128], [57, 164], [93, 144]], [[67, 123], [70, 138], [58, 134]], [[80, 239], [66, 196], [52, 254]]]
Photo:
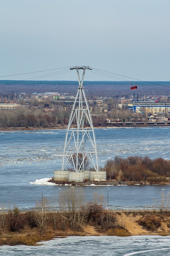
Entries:
[[169, 182], [170, 160], [161, 157], [150, 159], [148, 156], [115, 157], [108, 160], [104, 166], [107, 179], [118, 182], [132, 181], [144, 183]]

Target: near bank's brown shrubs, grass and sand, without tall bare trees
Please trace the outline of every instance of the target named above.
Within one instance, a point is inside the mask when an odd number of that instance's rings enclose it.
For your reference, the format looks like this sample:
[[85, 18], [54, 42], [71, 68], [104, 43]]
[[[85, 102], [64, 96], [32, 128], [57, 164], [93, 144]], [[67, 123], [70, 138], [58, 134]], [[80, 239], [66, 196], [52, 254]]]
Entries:
[[[91, 207], [92, 210], [93, 207]], [[9, 213], [5, 214], [5, 225], [0, 228], [0, 245], [35, 245], [43, 240], [55, 237], [107, 235], [107, 236], [130, 236], [130, 235], [170, 235], [170, 213], [160, 212], [116, 212], [98, 209], [95, 207], [89, 211], [82, 222], [81, 229], [78, 226], [71, 228], [70, 213], [66, 213], [65, 230], [62, 228], [62, 212], [55, 212], [56, 226], [53, 223], [53, 213], [47, 211], [46, 224], [43, 231], [38, 225], [35, 211], [18, 213], [22, 220], [22, 226], [16, 221], [17, 230], [11, 231]], [[71, 217], [72, 218], [72, 217]], [[77, 216], [76, 216], [77, 223]]]

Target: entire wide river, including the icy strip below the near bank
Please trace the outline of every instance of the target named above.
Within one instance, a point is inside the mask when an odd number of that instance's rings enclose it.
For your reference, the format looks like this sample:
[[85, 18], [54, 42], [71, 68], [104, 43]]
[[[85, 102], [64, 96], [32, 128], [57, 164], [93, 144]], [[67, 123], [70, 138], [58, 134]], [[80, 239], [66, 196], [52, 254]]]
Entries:
[[[61, 168], [66, 130], [0, 132], [0, 207], [35, 207], [43, 195], [50, 201], [64, 189], [104, 194], [109, 209], [159, 209], [161, 194], [168, 199], [170, 186], [68, 186], [49, 185], [48, 178]], [[170, 127], [95, 129], [99, 166], [115, 156], [145, 156], [170, 159]], [[169, 204], [168, 204], [169, 207]], [[0, 247], [2, 255], [170, 255], [170, 237], [68, 237], [42, 246]]]

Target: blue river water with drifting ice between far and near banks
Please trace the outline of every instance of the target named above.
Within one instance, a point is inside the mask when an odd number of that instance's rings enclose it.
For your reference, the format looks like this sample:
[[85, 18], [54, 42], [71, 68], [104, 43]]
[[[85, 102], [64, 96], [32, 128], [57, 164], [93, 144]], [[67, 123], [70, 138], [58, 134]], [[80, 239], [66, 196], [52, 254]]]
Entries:
[[[56, 199], [66, 186], [44, 182], [61, 169], [66, 130], [0, 132], [0, 206], [32, 209], [44, 197]], [[148, 155], [170, 159], [170, 127], [95, 129], [99, 166], [115, 156]], [[45, 179], [46, 178], [46, 179]], [[68, 186], [67, 186], [68, 187]], [[69, 188], [73, 189], [73, 188]], [[161, 193], [168, 196], [170, 186], [75, 186], [85, 201], [93, 194], [108, 196], [110, 209], [158, 208]]]

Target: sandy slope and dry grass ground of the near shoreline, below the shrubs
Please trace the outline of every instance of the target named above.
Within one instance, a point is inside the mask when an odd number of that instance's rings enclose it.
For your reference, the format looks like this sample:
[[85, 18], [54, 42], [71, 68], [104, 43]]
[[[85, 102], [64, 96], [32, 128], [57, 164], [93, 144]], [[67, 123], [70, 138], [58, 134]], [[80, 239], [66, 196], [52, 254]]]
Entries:
[[[24, 229], [20, 231], [9, 231], [7, 227], [0, 229], [0, 245], [37, 245], [40, 241], [51, 240], [53, 238], [64, 238], [67, 236], [140, 236], [140, 235], [170, 235], [170, 211], [104, 211], [106, 216], [113, 214], [115, 218], [115, 224], [112, 227], [102, 227], [101, 224], [93, 220], [85, 220], [82, 225], [81, 231], [73, 231], [69, 227], [66, 227], [65, 231], [62, 231], [60, 226], [60, 216], [57, 217], [57, 227], [54, 230], [51, 223], [47, 222], [43, 234], [40, 234], [38, 227], [30, 228], [26, 225]], [[22, 214], [25, 213], [20, 213]], [[48, 212], [48, 214], [53, 214]], [[60, 214], [60, 213], [56, 213]], [[49, 218], [51, 218], [49, 216]], [[154, 228], [148, 228], [140, 224], [140, 220], [149, 219], [159, 222], [159, 225], [155, 223]], [[151, 223], [153, 225], [153, 223]]]

